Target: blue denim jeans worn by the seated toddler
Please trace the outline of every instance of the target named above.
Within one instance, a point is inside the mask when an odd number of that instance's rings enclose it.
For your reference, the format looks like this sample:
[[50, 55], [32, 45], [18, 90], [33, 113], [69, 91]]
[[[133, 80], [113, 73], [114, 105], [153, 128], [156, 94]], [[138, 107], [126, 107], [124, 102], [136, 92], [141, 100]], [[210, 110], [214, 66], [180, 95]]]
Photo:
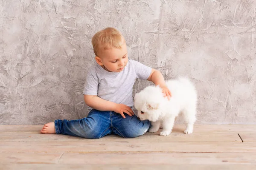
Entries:
[[86, 118], [76, 120], [55, 120], [56, 134], [80, 136], [88, 139], [99, 139], [108, 134], [124, 138], [134, 138], [146, 133], [148, 120], [140, 121], [137, 116], [125, 114], [125, 119], [113, 111], [91, 110]]

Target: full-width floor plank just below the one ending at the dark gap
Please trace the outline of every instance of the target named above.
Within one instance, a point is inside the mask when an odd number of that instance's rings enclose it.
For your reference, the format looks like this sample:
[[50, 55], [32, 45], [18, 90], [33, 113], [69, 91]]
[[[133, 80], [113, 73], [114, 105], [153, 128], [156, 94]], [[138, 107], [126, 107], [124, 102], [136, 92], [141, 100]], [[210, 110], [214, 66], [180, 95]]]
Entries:
[[0, 153], [256, 153], [256, 143], [238, 142], [0, 142]]

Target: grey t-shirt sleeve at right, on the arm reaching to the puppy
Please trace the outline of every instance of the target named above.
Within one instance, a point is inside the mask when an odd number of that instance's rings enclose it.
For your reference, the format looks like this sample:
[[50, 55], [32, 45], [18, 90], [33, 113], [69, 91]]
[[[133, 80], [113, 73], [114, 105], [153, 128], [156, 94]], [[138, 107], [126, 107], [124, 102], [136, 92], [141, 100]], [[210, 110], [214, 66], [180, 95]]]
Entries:
[[152, 68], [138, 62], [135, 60], [131, 60], [132, 64], [134, 65], [136, 78], [146, 80], [151, 74]]

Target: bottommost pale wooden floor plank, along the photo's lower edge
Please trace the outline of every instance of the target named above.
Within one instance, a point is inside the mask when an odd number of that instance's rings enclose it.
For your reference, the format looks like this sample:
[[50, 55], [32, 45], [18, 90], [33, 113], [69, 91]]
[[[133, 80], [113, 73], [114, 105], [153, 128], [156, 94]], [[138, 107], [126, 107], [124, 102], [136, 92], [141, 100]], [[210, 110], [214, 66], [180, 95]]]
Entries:
[[[130, 161], [131, 162], [131, 161]], [[255, 170], [254, 164], [2, 164], [0, 170]]]

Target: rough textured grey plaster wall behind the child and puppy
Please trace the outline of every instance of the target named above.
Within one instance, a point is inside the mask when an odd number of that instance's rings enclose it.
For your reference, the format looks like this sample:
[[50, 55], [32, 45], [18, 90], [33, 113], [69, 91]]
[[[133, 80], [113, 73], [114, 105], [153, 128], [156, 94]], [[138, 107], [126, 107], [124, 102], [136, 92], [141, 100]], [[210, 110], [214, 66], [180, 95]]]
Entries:
[[0, 0], [0, 124], [86, 116], [91, 37], [109, 26], [130, 58], [195, 82], [197, 123], [256, 124], [255, 0]]

